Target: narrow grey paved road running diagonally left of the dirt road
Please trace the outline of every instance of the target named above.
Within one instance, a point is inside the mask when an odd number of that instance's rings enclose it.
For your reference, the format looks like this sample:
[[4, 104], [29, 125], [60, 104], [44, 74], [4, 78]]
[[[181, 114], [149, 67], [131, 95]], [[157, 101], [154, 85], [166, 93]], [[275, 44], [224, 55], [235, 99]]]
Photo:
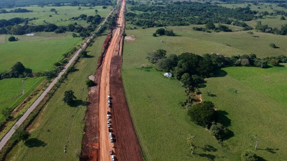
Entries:
[[[115, 8], [114, 8], [115, 9]], [[100, 25], [100, 27], [97, 29], [97, 31], [102, 27], [102, 25], [107, 21], [107, 18], [110, 16], [110, 14], [114, 11], [114, 9], [109, 13], [109, 15], [105, 18], [103, 23]], [[16, 131], [16, 128], [19, 127], [23, 121], [28, 117], [28, 115], [38, 106], [38, 104], [44, 99], [44, 97], [47, 95], [47, 93], [52, 89], [52, 87], [57, 83], [58, 79], [64, 74], [64, 72], [68, 69], [68, 67], [74, 62], [74, 60], [77, 58], [79, 53], [82, 51], [82, 49], [85, 49], [87, 46], [87, 42], [90, 42], [94, 38], [95, 34], [90, 36], [90, 38], [82, 45], [82, 47], [76, 52], [76, 54], [71, 58], [69, 63], [65, 66], [65, 68], [59, 73], [59, 75], [52, 81], [52, 83], [48, 86], [47, 89], [37, 98], [37, 100], [30, 106], [30, 108], [23, 114], [22, 117], [19, 118], [19, 120], [14, 124], [14, 126], [7, 132], [7, 134], [1, 139], [0, 141], [0, 150], [3, 148], [3, 146], [7, 143], [7, 141], [10, 139], [10, 137], [13, 135], [13, 133]]]

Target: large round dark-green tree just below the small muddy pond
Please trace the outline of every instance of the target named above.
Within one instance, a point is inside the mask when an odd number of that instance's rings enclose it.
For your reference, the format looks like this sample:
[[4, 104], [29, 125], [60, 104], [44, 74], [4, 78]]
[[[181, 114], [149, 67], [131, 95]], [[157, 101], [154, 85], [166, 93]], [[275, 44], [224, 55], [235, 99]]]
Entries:
[[206, 127], [214, 121], [214, 104], [211, 101], [194, 104], [188, 115], [194, 123]]

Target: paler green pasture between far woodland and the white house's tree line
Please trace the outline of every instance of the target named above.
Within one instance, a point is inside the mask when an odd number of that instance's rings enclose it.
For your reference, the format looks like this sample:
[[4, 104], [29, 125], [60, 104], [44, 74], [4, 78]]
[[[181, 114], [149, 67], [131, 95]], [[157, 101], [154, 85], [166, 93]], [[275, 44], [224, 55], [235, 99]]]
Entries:
[[[273, 55], [287, 55], [287, 37], [285, 35], [275, 35], [270, 33], [256, 32], [254, 35], [247, 34], [248, 31], [237, 32], [202, 32], [195, 31], [194, 26], [169, 26], [173, 29], [175, 36], [157, 36], [158, 42], [167, 45], [173, 50], [173, 53], [181, 54], [183, 52], [192, 52], [196, 54], [221, 53], [222, 55], [242, 55], [254, 53], [259, 58]], [[231, 26], [231, 25], [230, 25]], [[153, 38], [152, 33], [158, 28], [126, 30], [128, 35], [138, 34]], [[231, 28], [232, 29], [232, 28]], [[150, 41], [146, 38], [146, 41]], [[280, 48], [272, 48], [270, 43], [276, 44]], [[146, 51], [149, 52], [149, 51]]]

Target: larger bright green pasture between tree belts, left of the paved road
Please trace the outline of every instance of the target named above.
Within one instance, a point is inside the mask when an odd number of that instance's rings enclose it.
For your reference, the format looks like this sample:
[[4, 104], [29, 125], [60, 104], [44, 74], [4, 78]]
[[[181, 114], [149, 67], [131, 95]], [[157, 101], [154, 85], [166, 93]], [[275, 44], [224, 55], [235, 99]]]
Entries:
[[[1, 35], [2, 37], [3, 35]], [[7, 35], [6, 41], [8, 39]], [[37, 33], [35, 36], [15, 35], [18, 41], [0, 44], [0, 72], [9, 69], [17, 61], [33, 72], [53, 69], [54, 63], [63, 58], [62, 54], [81, 43], [81, 38], [73, 38], [71, 33]]]

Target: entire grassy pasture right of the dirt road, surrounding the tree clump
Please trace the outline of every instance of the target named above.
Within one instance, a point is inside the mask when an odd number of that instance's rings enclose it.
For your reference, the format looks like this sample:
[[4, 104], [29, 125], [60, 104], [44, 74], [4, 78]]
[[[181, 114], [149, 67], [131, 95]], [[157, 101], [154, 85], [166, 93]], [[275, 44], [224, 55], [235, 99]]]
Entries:
[[[228, 75], [225, 73], [207, 79], [207, 87], [201, 89], [202, 92], [210, 90], [217, 97], [203, 95], [204, 100], [212, 100], [219, 107], [220, 121], [233, 131], [222, 146], [208, 131], [191, 123], [186, 110], [180, 108], [180, 102], [186, 99], [180, 82], [165, 78], [163, 72], [155, 71], [145, 57], [148, 52], [157, 49], [167, 50], [167, 55], [182, 52], [219, 52], [229, 56], [255, 53], [261, 58], [286, 55], [286, 37], [255, 30], [253, 32], [254, 36], [258, 36], [257, 39], [248, 35], [247, 31], [208, 34], [192, 30], [193, 26], [167, 27], [177, 34], [171, 37], [153, 37], [152, 33], [157, 28], [126, 30], [127, 35], [134, 35], [136, 39], [124, 42], [121, 75], [145, 158], [162, 160], [158, 155], [160, 151], [167, 160], [240, 160], [242, 150], [252, 150], [249, 136], [257, 134], [262, 141], [259, 141], [258, 146], [261, 150], [255, 151], [256, 154], [266, 160], [284, 160], [286, 156], [283, 153], [287, 149], [284, 141], [280, 143], [280, 140], [286, 140], [282, 129], [286, 129], [283, 121], [286, 110], [283, 107], [286, 106], [284, 75], [287, 68], [232, 67], [224, 69]], [[279, 42], [280, 49], [269, 47], [269, 42]], [[228, 69], [233, 69], [233, 72]], [[242, 74], [245, 76], [242, 77]], [[262, 82], [264, 86], [261, 86]], [[238, 100], [237, 95], [233, 95], [233, 88], [239, 90]], [[279, 93], [278, 88], [282, 89]], [[280, 97], [276, 97], [277, 94]], [[274, 120], [269, 121], [273, 115], [276, 115]], [[272, 134], [272, 131], [278, 132]], [[196, 136], [198, 148], [195, 155], [191, 155], [188, 149], [186, 137], [189, 133]]]

